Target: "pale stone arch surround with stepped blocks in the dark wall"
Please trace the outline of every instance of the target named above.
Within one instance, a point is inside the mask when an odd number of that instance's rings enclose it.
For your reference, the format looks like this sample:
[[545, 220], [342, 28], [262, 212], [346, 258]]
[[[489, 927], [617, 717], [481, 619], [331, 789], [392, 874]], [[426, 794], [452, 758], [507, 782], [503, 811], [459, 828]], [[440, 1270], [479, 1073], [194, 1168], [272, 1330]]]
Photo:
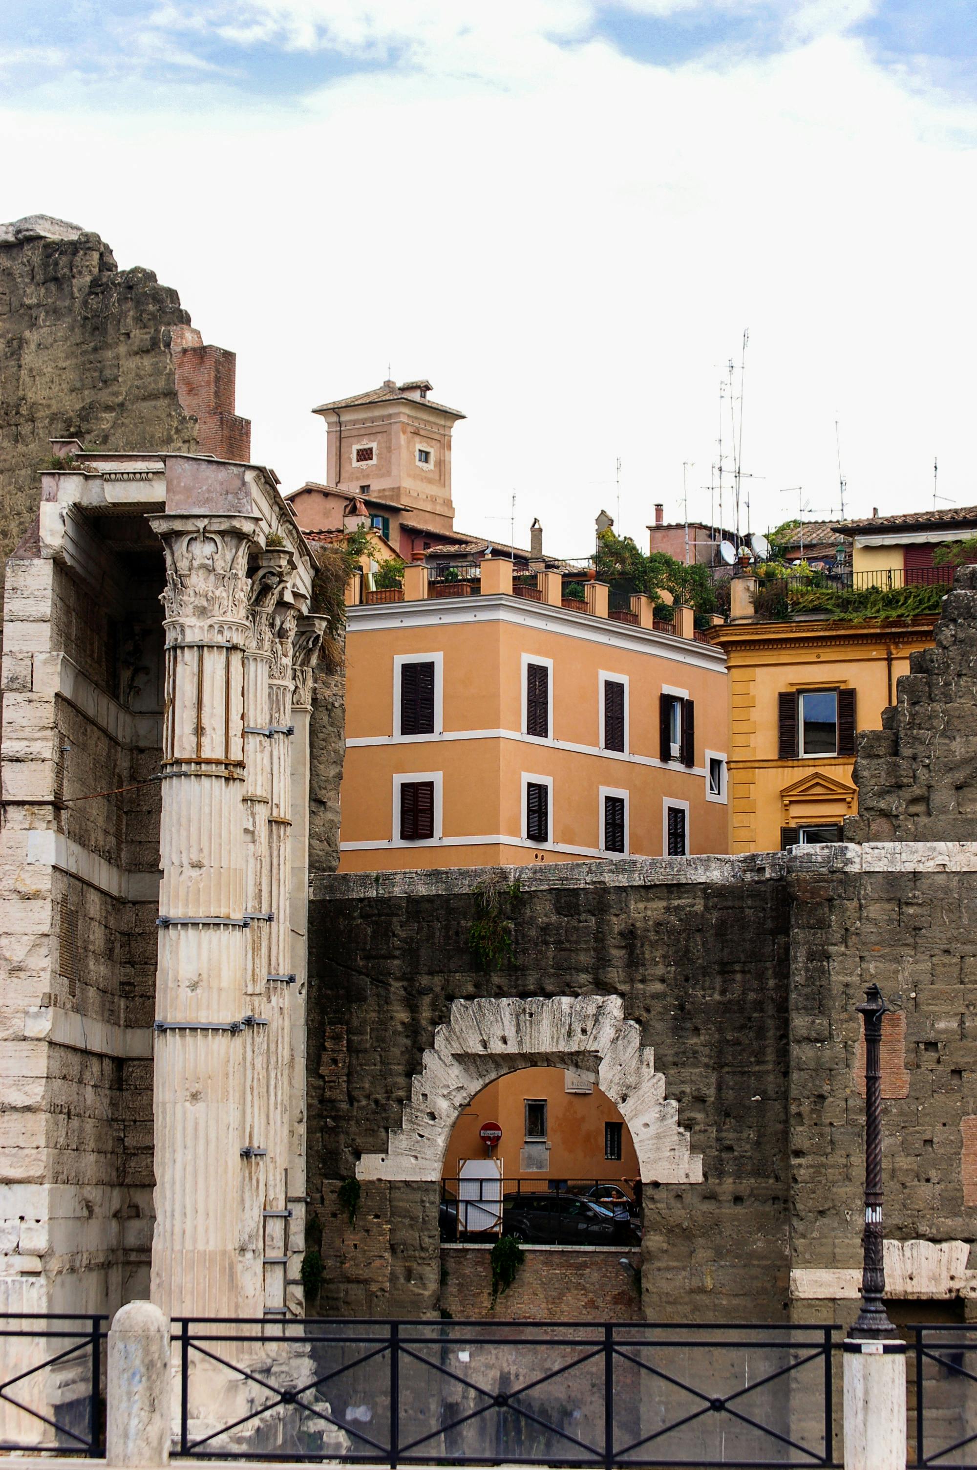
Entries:
[[679, 1104], [666, 1097], [654, 1051], [624, 1020], [620, 995], [558, 995], [454, 1001], [411, 1082], [401, 1127], [385, 1154], [364, 1154], [357, 1179], [436, 1182], [464, 1107], [483, 1086], [520, 1067], [573, 1066], [592, 1072], [621, 1111], [645, 1183], [701, 1183], [702, 1155], [679, 1127]]

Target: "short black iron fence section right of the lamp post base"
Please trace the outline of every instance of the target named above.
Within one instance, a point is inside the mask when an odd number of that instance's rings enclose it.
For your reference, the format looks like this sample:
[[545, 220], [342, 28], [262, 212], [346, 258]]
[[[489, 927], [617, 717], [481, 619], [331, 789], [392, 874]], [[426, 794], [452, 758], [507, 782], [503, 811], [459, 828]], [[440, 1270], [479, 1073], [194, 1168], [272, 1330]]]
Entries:
[[915, 1383], [911, 1376], [908, 1385], [909, 1444], [915, 1439], [915, 1464], [977, 1470], [977, 1327], [909, 1330], [908, 1366], [915, 1369]]

